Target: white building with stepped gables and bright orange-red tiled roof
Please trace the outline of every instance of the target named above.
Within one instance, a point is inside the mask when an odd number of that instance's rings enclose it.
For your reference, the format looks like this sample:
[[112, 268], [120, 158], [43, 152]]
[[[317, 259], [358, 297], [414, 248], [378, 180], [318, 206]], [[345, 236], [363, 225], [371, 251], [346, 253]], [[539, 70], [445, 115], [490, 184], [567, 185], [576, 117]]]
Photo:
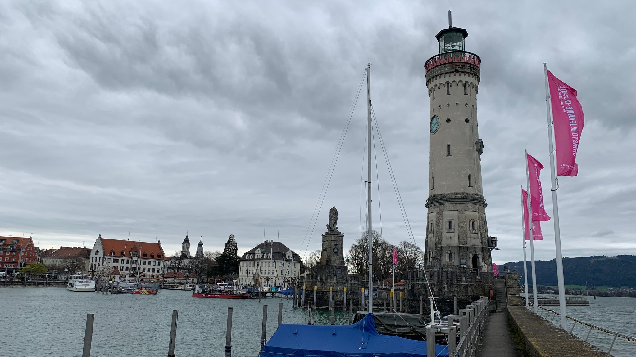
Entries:
[[160, 280], [165, 255], [160, 241], [156, 243], [128, 241], [126, 239], [106, 239], [97, 236], [90, 255], [89, 271], [95, 272], [100, 266], [109, 264], [120, 271], [125, 278], [145, 278]]

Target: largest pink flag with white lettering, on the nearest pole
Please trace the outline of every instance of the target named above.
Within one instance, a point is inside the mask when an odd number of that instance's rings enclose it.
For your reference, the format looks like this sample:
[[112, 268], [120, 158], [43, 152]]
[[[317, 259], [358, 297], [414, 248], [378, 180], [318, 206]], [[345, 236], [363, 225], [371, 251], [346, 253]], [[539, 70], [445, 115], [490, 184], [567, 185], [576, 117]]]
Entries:
[[556, 175], [576, 176], [579, 165], [576, 152], [583, 131], [583, 108], [576, 98], [576, 90], [548, 71], [548, 84], [555, 127]]

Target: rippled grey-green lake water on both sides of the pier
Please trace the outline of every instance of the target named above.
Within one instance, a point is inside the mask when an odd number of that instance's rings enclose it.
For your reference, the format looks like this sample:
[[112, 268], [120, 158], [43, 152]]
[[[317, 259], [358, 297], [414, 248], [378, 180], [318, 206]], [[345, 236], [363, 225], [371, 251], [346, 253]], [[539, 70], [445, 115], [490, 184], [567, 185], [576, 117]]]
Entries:
[[[268, 305], [267, 338], [283, 303], [284, 323], [307, 323], [307, 309], [291, 299], [195, 299], [191, 292], [162, 290], [158, 295], [102, 295], [66, 288], [0, 288], [0, 355], [11, 357], [81, 356], [86, 314], [95, 314], [91, 356], [166, 356], [172, 309], [179, 310], [177, 357], [223, 356], [227, 308], [233, 307], [232, 356], [258, 356], [263, 305]], [[616, 332], [636, 335], [636, 299], [597, 297], [590, 306], [568, 307], [568, 314]], [[558, 309], [558, 307], [557, 307]], [[336, 311], [336, 323], [349, 313]], [[329, 311], [312, 311], [312, 323], [327, 325]], [[570, 326], [571, 327], [571, 326]], [[574, 333], [585, 338], [588, 329]], [[605, 351], [608, 335], [593, 331], [589, 342]], [[636, 356], [636, 344], [616, 340], [612, 354]]]

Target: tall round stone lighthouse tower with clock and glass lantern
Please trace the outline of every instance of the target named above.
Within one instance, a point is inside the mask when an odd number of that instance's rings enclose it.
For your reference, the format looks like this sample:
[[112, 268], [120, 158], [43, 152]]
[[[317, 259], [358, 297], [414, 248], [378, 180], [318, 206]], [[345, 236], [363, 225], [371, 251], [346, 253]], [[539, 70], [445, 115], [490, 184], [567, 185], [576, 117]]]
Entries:
[[428, 268], [492, 268], [486, 201], [481, 189], [477, 93], [480, 57], [464, 50], [465, 29], [452, 27], [435, 36], [439, 54], [425, 63], [431, 100], [429, 199], [425, 258]]

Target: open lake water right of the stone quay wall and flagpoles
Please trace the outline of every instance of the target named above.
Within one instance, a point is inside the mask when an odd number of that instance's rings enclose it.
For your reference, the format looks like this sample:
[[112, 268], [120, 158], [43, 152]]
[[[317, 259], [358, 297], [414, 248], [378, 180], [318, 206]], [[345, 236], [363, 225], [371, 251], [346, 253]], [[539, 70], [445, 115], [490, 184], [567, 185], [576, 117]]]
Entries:
[[[550, 309], [557, 311], [558, 306], [551, 306]], [[594, 300], [590, 297], [590, 306], [568, 306], [568, 316], [572, 316], [577, 320], [597, 325], [598, 327], [605, 328], [618, 333], [625, 333], [632, 337], [636, 337], [636, 299], [632, 297], [597, 297]], [[559, 319], [556, 316], [554, 322]], [[549, 320], [552, 320], [550, 315]], [[573, 321], [568, 320], [568, 331], [572, 328]], [[574, 335], [585, 339], [586, 335], [590, 331], [589, 327], [584, 327], [577, 324], [574, 327]], [[606, 333], [592, 330], [588, 342], [607, 352], [609, 346], [612, 344], [614, 335], [607, 335]], [[612, 347], [613, 356], [617, 357], [633, 357], [636, 356], [636, 344], [626, 342], [621, 339], [616, 339], [614, 347]]]

